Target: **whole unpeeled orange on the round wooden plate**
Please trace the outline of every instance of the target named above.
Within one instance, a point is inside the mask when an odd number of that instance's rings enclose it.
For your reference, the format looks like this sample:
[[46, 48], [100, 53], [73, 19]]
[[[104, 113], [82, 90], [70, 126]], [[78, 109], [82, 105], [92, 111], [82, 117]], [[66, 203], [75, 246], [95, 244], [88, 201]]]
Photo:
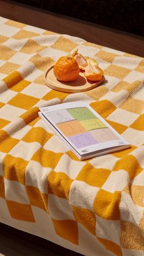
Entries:
[[54, 65], [54, 75], [63, 82], [71, 82], [79, 76], [79, 65], [71, 56], [63, 56]]

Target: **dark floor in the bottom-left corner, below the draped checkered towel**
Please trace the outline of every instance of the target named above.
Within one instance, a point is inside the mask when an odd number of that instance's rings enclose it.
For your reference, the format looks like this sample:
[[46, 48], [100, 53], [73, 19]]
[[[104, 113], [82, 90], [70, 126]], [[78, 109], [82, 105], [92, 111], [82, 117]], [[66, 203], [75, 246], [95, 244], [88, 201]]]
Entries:
[[38, 236], [0, 223], [0, 255], [5, 256], [82, 256]]

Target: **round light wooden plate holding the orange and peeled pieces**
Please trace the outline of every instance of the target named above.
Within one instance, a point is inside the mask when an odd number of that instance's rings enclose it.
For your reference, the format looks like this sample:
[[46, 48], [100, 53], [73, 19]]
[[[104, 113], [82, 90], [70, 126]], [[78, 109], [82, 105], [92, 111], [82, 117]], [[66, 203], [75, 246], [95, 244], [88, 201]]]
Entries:
[[54, 90], [59, 90], [60, 92], [85, 92], [87, 90], [95, 88], [96, 86], [99, 86], [99, 84], [104, 81], [104, 77], [103, 79], [101, 79], [101, 81], [98, 82], [87, 81], [84, 73], [80, 71], [79, 77], [75, 81], [61, 82], [57, 80], [56, 76], [54, 76], [53, 67], [54, 65], [52, 65], [48, 68], [48, 70], [45, 71], [44, 81], [46, 86]]

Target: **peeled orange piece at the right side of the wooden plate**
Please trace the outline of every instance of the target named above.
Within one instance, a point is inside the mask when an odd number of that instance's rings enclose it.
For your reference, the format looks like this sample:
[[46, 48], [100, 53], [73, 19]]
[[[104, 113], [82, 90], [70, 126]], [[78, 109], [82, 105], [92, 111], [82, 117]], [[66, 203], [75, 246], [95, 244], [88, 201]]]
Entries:
[[90, 81], [100, 81], [103, 79], [103, 70], [98, 67], [98, 65], [90, 65], [88, 64], [85, 68], [85, 78]]

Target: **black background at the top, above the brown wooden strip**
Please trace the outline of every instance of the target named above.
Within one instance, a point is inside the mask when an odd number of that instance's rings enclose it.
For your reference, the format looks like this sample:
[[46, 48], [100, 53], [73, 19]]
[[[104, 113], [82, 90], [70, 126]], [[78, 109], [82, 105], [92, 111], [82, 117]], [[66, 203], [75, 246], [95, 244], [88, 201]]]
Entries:
[[144, 0], [14, 0], [144, 36]]

